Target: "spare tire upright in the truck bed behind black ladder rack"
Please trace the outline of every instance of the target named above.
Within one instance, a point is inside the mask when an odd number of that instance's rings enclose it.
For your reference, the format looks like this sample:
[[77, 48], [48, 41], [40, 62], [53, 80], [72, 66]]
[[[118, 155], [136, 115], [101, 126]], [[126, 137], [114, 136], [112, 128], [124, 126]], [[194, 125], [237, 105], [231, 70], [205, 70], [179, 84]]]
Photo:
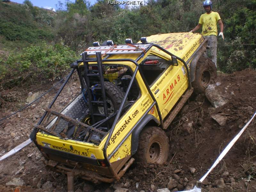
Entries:
[[[104, 82], [104, 86], [105, 86], [105, 93], [106, 93], [106, 99], [107, 99], [108, 115], [111, 115], [114, 112], [116, 112], [121, 106], [125, 93], [113, 83]], [[98, 98], [98, 100], [102, 100], [102, 99]], [[103, 114], [104, 108], [94, 107], [93, 111], [95, 112], [98, 111], [99, 113]]]

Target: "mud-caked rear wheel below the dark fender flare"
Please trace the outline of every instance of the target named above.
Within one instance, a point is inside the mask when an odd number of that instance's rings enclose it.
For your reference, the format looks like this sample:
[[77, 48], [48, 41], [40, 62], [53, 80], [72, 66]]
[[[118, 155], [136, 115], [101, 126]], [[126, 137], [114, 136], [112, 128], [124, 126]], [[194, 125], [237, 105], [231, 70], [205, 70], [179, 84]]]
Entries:
[[168, 153], [169, 140], [165, 132], [159, 127], [145, 127], [140, 133], [136, 160], [143, 163], [164, 164]]

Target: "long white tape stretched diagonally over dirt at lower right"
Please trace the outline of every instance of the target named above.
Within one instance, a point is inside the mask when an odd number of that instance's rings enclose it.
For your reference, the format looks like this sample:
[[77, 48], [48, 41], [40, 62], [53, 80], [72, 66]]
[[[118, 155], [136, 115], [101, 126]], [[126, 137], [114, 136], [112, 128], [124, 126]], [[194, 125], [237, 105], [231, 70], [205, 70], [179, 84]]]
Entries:
[[247, 124], [244, 125], [243, 129], [241, 129], [241, 131], [236, 135], [236, 137], [234, 137], [234, 139], [232, 139], [232, 141], [230, 141], [230, 143], [228, 144], [228, 146], [221, 152], [220, 156], [216, 159], [216, 161], [214, 162], [214, 164], [212, 165], [212, 167], [209, 169], [209, 171], [199, 180], [201, 182], [203, 182], [203, 180], [207, 177], [207, 175], [212, 171], [212, 169], [218, 164], [220, 163], [221, 159], [228, 153], [229, 149], [235, 144], [235, 142], [238, 140], [238, 138], [242, 135], [242, 133], [244, 132], [244, 130], [246, 129], [246, 127], [251, 123], [252, 119], [255, 117], [256, 111], [253, 114], [252, 118], [247, 122]]

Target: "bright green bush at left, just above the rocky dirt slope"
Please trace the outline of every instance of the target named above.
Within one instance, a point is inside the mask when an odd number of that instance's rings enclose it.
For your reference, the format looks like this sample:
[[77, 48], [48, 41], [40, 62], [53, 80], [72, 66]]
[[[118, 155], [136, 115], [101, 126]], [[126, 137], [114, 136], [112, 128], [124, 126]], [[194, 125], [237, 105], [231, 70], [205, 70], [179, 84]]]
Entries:
[[76, 53], [62, 44], [23, 48], [20, 53], [9, 55], [2, 74], [2, 84], [10, 87], [18, 84], [33, 84], [47, 79], [62, 78], [70, 70], [69, 64], [76, 59]]

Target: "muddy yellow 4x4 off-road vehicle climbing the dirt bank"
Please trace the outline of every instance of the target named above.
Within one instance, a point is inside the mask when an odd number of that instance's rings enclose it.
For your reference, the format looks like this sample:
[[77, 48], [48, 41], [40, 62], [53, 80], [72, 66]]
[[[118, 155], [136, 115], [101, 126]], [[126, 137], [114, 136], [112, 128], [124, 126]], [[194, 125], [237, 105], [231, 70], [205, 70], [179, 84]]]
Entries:
[[[139, 43], [94, 42], [30, 135], [55, 171], [85, 180], [118, 180], [134, 161], [164, 164], [167, 129], [193, 90], [204, 92], [217, 76], [201, 57], [200, 34], [169, 33]], [[68, 79], [78, 73], [81, 91], [60, 112], [51, 109]], [[134, 158], [133, 158], [134, 157]]]

